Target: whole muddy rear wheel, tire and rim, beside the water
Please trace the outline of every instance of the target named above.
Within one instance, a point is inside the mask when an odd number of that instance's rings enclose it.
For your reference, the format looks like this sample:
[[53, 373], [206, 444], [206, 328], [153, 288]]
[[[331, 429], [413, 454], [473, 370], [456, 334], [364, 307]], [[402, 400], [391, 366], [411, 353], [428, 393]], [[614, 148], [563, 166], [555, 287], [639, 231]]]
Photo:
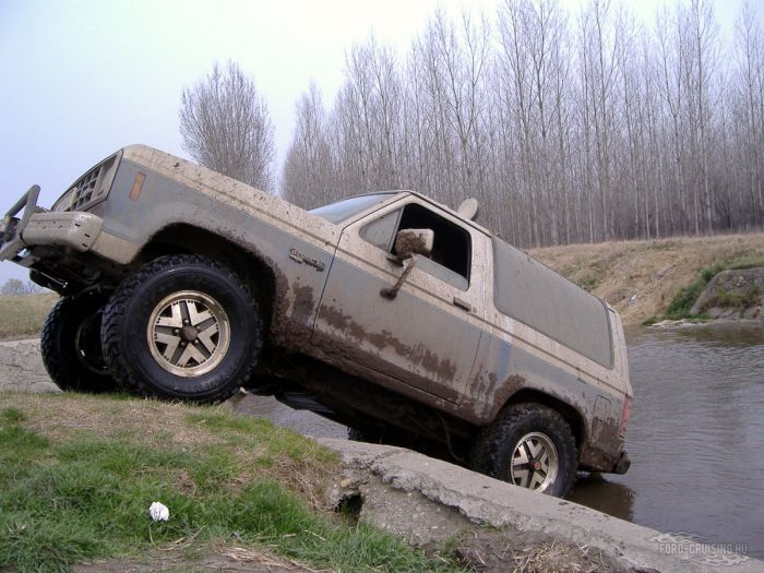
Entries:
[[513, 404], [482, 430], [469, 466], [487, 476], [564, 497], [575, 481], [575, 439], [556, 410], [540, 404]]

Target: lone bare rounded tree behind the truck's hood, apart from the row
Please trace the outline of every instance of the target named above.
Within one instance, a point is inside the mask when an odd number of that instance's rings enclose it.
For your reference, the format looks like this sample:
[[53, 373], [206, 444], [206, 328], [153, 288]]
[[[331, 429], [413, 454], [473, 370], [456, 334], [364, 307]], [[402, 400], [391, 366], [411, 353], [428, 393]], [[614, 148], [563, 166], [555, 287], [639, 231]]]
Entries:
[[183, 89], [183, 148], [200, 164], [264, 191], [273, 190], [274, 127], [254, 81], [229, 61]]

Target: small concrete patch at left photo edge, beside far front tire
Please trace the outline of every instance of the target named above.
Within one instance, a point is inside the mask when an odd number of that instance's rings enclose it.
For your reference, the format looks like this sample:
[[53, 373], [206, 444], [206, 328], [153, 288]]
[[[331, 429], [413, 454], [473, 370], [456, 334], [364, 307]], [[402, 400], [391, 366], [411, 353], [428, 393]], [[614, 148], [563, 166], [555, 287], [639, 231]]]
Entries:
[[60, 392], [43, 365], [39, 339], [0, 343], [0, 391]]

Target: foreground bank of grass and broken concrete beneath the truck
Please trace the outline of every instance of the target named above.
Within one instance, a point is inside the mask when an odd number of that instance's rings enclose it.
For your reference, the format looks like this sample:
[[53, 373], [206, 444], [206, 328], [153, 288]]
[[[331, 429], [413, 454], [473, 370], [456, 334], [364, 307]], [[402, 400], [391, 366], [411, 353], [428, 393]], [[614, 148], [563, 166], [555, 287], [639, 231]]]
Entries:
[[[415, 452], [317, 443], [219, 407], [0, 393], [0, 570], [760, 565]], [[153, 501], [167, 522], [150, 518]]]

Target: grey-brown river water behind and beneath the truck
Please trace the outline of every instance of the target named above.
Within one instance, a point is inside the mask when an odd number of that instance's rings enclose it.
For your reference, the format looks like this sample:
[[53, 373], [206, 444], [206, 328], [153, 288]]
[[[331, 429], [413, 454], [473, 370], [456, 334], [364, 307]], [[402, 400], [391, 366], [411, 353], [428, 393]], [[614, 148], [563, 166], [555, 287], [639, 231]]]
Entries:
[[[764, 559], [764, 325], [626, 333], [635, 399], [624, 476], [581, 476], [570, 499]], [[237, 409], [310, 434], [346, 429], [272, 398]]]

